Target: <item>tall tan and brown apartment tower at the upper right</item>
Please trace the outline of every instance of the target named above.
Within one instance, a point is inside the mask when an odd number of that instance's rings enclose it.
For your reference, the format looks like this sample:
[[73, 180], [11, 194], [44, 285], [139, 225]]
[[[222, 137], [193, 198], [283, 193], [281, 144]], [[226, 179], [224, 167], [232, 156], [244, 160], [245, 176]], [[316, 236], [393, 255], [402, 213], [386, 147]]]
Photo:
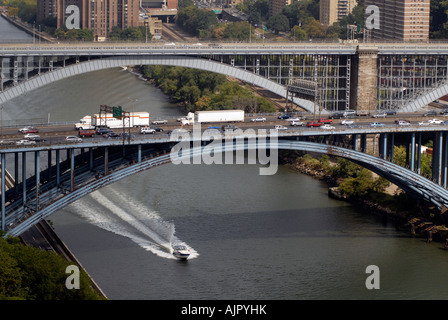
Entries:
[[379, 9], [379, 29], [371, 30], [372, 40], [422, 42], [429, 39], [430, 0], [366, 0], [365, 5]]

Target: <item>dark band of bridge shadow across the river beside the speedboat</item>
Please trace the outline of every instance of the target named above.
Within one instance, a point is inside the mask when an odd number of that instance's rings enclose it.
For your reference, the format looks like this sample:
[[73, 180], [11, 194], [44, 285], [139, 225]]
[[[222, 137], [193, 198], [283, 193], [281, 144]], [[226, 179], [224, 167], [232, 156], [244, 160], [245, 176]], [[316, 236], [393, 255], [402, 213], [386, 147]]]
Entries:
[[[196, 211], [194, 216], [173, 219], [183, 238], [228, 240], [244, 238], [397, 238], [409, 237], [377, 216], [358, 213], [352, 206], [298, 210], [213, 214]], [[213, 230], [204, 232], [203, 230]]]

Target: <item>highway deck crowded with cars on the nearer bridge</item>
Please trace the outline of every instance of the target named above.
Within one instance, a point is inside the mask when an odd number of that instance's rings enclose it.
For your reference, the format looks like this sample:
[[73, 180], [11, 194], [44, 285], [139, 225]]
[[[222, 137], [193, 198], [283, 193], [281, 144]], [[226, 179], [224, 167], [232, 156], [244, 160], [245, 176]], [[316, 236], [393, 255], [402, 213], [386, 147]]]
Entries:
[[[289, 114], [244, 116], [241, 121], [222, 121], [201, 123], [201, 130], [215, 129], [220, 132], [235, 131], [236, 129], [269, 129], [280, 132], [294, 133], [309, 131], [322, 133], [330, 131], [345, 131], [362, 128], [401, 128], [401, 127], [433, 127], [448, 128], [448, 113], [435, 111], [424, 114], [396, 114], [376, 113], [373, 115], [356, 116], [353, 112], [333, 113], [329, 116], [313, 114]], [[73, 125], [41, 125], [25, 126], [21, 128], [2, 128], [0, 146], [2, 148], [16, 148], [37, 145], [79, 144], [82, 142], [109, 140], [135, 140], [167, 138], [172, 133], [191, 132], [192, 123], [184, 125], [185, 117], [179, 119], [154, 119], [149, 125], [132, 128], [107, 128], [105, 126], [94, 129], [77, 129]], [[231, 124], [230, 124], [231, 123]], [[444, 128], [445, 129], [445, 128]], [[444, 130], [443, 129], [443, 130]]]

